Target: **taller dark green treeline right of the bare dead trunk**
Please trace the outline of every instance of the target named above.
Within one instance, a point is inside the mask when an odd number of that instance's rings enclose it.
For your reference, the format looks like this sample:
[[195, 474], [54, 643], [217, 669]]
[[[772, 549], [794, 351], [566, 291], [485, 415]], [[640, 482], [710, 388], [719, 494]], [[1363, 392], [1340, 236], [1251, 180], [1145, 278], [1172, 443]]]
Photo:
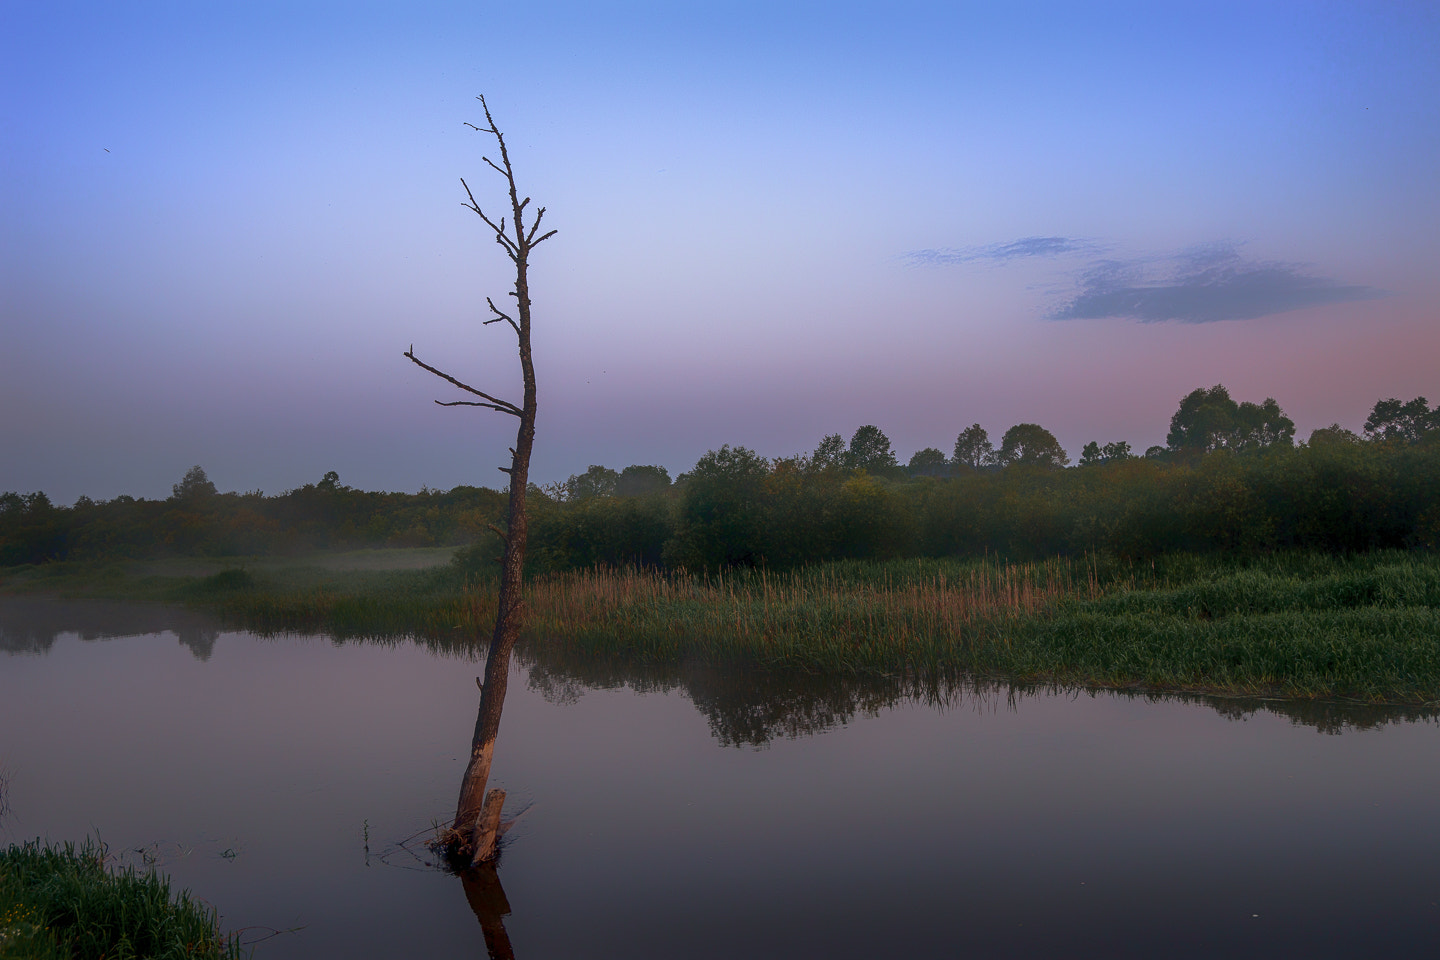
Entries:
[[1377, 403], [1364, 435], [1332, 425], [1296, 443], [1273, 399], [1237, 403], [1215, 386], [1181, 400], [1166, 446], [1136, 456], [1125, 442], [1092, 442], [1068, 462], [1040, 425], [1011, 427], [996, 449], [976, 423], [952, 456], [930, 448], [907, 466], [876, 426], [773, 461], [724, 446], [674, 486], [638, 495], [592, 466], [533, 498], [530, 556], [539, 569], [714, 570], [1440, 543], [1440, 407], [1423, 397]]

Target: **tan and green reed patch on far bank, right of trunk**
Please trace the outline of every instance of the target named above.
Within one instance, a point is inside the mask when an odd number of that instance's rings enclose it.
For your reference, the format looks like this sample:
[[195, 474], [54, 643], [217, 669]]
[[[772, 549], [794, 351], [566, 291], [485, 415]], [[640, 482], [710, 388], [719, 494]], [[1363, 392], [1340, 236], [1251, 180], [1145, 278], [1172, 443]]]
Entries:
[[852, 574], [844, 566], [782, 574], [553, 574], [528, 590], [528, 630], [596, 652], [619, 646], [641, 662], [749, 661], [883, 674], [959, 668], [994, 640], [996, 626], [1099, 592], [1068, 561]]

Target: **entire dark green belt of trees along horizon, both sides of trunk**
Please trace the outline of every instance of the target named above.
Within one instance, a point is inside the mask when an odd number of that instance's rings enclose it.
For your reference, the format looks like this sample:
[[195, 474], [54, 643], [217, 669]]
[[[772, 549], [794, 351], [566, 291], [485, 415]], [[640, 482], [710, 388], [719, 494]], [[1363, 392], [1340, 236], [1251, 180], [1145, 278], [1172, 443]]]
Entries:
[[[275, 497], [220, 494], [197, 466], [163, 501], [0, 495], [0, 566], [472, 544], [458, 563], [480, 571], [504, 504], [477, 486], [366, 492], [333, 472]], [[1035, 423], [1012, 426], [998, 448], [971, 425], [949, 455], [927, 448], [904, 465], [867, 425], [799, 456], [721, 446], [674, 482], [661, 466], [592, 466], [534, 488], [531, 511], [536, 570], [1434, 548], [1440, 407], [1381, 400], [1364, 433], [1331, 426], [1296, 442], [1274, 400], [1237, 403], [1215, 386], [1181, 400], [1165, 446], [1135, 455], [1092, 442], [1073, 465]]]

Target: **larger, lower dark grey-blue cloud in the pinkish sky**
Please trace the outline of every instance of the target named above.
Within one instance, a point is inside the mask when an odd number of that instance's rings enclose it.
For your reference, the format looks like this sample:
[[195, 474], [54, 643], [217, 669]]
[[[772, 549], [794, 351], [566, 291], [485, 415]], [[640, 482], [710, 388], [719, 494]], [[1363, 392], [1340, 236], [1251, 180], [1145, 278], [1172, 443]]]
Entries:
[[1385, 295], [1374, 286], [1316, 276], [1299, 263], [1246, 261], [1233, 243], [1217, 243], [1169, 258], [1100, 261], [1081, 273], [1080, 291], [1051, 317], [1210, 324]]

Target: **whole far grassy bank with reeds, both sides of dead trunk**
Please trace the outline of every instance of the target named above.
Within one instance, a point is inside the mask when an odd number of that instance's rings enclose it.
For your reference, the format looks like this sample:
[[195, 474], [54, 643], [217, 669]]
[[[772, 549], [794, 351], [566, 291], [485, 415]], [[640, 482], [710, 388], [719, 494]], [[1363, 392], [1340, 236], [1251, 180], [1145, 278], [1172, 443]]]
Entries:
[[[455, 566], [137, 583], [262, 632], [464, 643], [494, 617], [488, 583]], [[531, 580], [528, 610], [531, 642], [631, 662], [1440, 701], [1440, 557], [1427, 553], [596, 569]]]

